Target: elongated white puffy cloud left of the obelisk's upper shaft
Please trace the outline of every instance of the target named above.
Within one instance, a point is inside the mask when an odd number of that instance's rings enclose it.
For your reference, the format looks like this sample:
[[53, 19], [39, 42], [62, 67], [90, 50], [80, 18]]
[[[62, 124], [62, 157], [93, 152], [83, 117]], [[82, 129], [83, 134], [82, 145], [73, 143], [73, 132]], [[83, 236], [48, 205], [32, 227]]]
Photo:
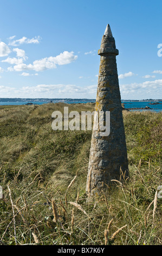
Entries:
[[35, 60], [33, 64], [18, 64], [14, 66], [15, 71], [23, 70], [35, 70], [43, 71], [46, 69], [55, 69], [56, 65], [66, 65], [77, 59], [77, 56], [74, 55], [74, 52], [64, 51], [56, 57], [48, 57], [40, 60]]

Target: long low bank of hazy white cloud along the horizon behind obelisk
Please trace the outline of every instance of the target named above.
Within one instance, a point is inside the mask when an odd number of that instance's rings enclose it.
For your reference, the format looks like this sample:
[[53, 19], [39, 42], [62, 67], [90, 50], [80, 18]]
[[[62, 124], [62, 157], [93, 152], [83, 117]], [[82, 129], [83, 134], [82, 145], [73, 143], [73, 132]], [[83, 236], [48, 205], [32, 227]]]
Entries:
[[[161, 95], [162, 80], [145, 81], [143, 83], [121, 84], [121, 99], [157, 99]], [[38, 84], [22, 88], [0, 87], [1, 97], [49, 97], [49, 98], [96, 98], [97, 85], [77, 86], [75, 84]]]

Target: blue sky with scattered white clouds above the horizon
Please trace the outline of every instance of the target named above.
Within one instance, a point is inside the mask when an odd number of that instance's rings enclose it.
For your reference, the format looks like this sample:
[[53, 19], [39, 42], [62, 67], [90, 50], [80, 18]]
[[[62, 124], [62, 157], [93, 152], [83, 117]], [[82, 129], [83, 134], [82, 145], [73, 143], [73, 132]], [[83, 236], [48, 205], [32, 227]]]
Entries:
[[0, 97], [95, 99], [109, 23], [121, 99], [162, 98], [161, 0], [0, 0], [0, 7]]

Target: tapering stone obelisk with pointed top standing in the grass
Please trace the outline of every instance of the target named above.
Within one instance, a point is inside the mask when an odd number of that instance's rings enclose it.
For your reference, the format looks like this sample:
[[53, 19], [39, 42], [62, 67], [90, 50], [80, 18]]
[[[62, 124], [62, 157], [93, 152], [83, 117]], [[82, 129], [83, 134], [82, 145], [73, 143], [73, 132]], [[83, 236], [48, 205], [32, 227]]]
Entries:
[[119, 51], [116, 49], [109, 25], [102, 37], [98, 54], [101, 57], [95, 111], [110, 112], [110, 132], [108, 136], [100, 136], [99, 130], [93, 128], [92, 131], [86, 187], [89, 192], [90, 186], [90, 195], [99, 194], [102, 188], [111, 186], [112, 179], [122, 181], [128, 177], [127, 148], [116, 66], [116, 55]]

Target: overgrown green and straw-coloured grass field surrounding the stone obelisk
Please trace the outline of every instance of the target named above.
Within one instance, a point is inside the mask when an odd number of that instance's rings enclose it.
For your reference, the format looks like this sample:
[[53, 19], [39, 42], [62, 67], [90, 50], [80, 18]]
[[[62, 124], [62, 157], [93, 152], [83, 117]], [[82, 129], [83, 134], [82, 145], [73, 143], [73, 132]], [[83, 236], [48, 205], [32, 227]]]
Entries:
[[160, 245], [161, 113], [123, 111], [129, 182], [89, 201], [92, 131], [53, 131], [51, 113], [64, 106], [94, 110], [92, 103], [0, 108], [1, 243]]

